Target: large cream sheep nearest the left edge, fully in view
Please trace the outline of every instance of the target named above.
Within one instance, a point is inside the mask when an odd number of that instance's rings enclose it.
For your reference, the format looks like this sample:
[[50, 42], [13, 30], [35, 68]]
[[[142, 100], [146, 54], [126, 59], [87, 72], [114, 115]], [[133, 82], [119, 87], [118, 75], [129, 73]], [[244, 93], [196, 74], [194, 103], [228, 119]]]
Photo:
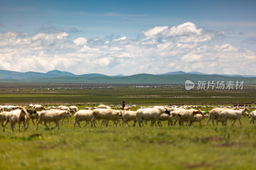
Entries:
[[10, 122], [11, 124], [12, 131], [14, 131], [13, 126], [16, 124], [16, 122], [19, 123], [19, 131], [20, 131], [20, 123], [23, 122], [23, 127], [25, 131], [26, 121], [27, 121], [27, 116], [26, 116], [26, 111], [24, 109], [20, 108], [20, 109], [12, 110], [9, 114], [7, 114], [7, 119], [4, 123], [3, 131], [8, 122]]

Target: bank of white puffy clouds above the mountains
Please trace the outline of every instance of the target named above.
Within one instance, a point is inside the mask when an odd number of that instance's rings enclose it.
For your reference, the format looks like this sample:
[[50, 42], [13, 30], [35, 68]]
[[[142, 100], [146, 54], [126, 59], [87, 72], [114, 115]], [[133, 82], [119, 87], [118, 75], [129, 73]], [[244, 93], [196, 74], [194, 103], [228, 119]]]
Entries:
[[[20, 72], [56, 69], [106, 75], [179, 70], [256, 74], [248, 69], [256, 63], [256, 54], [251, 49], [212, 41], [232, 33], [232, 29], [214, 32], [197, 28], [190, 22], [157, 26], [141, 32], [144, 37], [138, 39], [111, 34], [104, 39], [79, 37], [71, 41], [67, 32], [53, 26], [35, 29], [33, 34], [0, 32], [0, 69]], [[255, 42], [255, 37], [247, 41]]]

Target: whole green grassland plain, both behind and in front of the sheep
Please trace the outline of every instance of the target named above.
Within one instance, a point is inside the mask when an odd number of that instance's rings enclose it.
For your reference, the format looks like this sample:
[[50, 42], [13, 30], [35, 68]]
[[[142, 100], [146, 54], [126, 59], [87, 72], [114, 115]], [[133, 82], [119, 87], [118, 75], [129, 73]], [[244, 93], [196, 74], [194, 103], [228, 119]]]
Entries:
[[[62, 85], [59, 89], [60, 84], [2, 84], [0, 104], [74, 104], [83, 109], [101, 103], [117, 105], [125, 100], [140, 106], [179, 103], [230, 106], [236, 102], [255, 106], [256, 97], [255, 86], [246, 86], [241, 91], [186, 91], [178, 85], [154, 85], [157, 86], [154, 88], [94, 86]], [[57, 90], [50, 90], [50, 87]], [[132, 107], [132, 110], [137, 108]], [[211, 122], [206, 126], [207, 120], [203, 120], [202, 125], [194, 123], [194, 126], [167, 126], [167, 122], [163, 122], [163, 127], [116, 128], [110, 122], [108, 127], [98, 123], [96, 128], [81, 129], [73, 128], [73, 117], [69, 120], [70, 123], [64, 121], [60, 125], [60, 130], [45, 130], [42, 124], [36, 131], [31, 122], [27, 131], [19, 132], [16, 126], [12, 132], [8, 124], [6, 132], [0, 132], [0, 169], [256, 168], [253, 163], [256, 126], [249, 125], [249, 118], [242, 118], [242, 127], [238, 122], [234, 127], [230, 122], [227, 127], [213, 126]]]

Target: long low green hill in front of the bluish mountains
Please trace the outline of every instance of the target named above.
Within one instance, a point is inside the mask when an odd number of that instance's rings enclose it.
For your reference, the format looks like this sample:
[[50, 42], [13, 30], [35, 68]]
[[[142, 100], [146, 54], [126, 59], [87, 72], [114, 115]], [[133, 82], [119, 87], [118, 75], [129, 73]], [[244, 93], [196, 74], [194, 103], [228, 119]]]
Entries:
[[125, 84], [185, 84], [190, 80], [197, 84], [198, 81], [244, 81], [244, 84], [256, 84], [256, 78], [228, 77], [221, 75], [196, 75], [196, 74], [176, 74], [176, 75], [153, 75], [135, 74], [125, 77], [69, 77], [61, 76], [54, 78], [32, 78], [32, 79], [0, 79], [0, 82], [26, 82], [26, 83], [125, 83]]

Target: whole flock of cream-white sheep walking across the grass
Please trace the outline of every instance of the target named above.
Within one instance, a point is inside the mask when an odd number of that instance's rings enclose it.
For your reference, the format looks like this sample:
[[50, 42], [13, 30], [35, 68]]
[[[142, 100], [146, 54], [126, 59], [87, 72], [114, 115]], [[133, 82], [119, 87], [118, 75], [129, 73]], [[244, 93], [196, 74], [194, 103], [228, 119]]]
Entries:
[[[123, 110], [111, 109], [109, 106], [99, 105], [98, 107], [85, 107], [84, 110], [78, 110], [76, 106], [59, 106], [59, 107], [48, 107], [45, 108], [41, 105], [34, 105], [32, 109], [27, 109], [26, 106], [0, 106], [0, 121], [3, 126], [3, 131], [8, 122], [11, 124], [12, 131], [14, 131], [15, 124], [20, 124], [24, 128], [24, 131], [28, 129], [29, 120], [31, 119], [33, 124], [34, 119], [36, 119], [36, 130], [38, 129], [38, 125], [44, 122], [44, 125], [47, 129], [47, 123], [55, 122], [55, 127], [52, 129], [59, 127], [59, 122], [63, 122], [66, 118], [70, 117], [72, 114], [75, 117], [74, 128], [76, 124], [81, 128], [80, 122], [85, 121], [86, 125], [91, 123], [91, 127], [96, 127], [96, 120], [102, 120], [102, 124], [108, 126], [108, 122], [113, 121], [116, 127], [120, 124], [120, 120], [123, 120], [122, 126], [124, 124], [129, 126], [128, 122], [133, 121], [133, 125], [139, 123], [139, 126], [143, 126], [143, 123], [151, 122], [151, 126], [158, 124], [158, 126], [162, 126], [161, 121], [168, 121], [168, 125], [175, 125], [176, 122], [179, 122], [180, 125], [183, 125], [186, 122], [187, 125], [193, 125], [193, 122], [199, 122], [208, 117], [207, 124], [212, 120], [214, 125], [214, 121], [222, 122], [223, 126], [227, 125], [227, 121], [231, 120], [232, 126], [235, 121], [238, 120], [240, 125], [242, 123], [240, 121], [242, 115], [244, 117], [251, 117], [250, 124], [256, 119], [256, 110], [252, 111], [250, 115], [248, 112], [250, 111], [247, 107], [230, 107], [230, 108], [213, 108], [210, 111], [201, 111], [187, 107], [187, 106], [154, 106], [154, 107], [141, 107], [136, 111], [131, 111], [131, 107], [124, 107]], [[208, 115], [209, 114], [209, 115]], [[69, 122], [69, 120], [68, 120]], [[4, 123], [4, 124], [3, 124]], [[26, 127], [27, 124], [27, 127]], [[120, 124], [121, 125], [121, 124]]]

